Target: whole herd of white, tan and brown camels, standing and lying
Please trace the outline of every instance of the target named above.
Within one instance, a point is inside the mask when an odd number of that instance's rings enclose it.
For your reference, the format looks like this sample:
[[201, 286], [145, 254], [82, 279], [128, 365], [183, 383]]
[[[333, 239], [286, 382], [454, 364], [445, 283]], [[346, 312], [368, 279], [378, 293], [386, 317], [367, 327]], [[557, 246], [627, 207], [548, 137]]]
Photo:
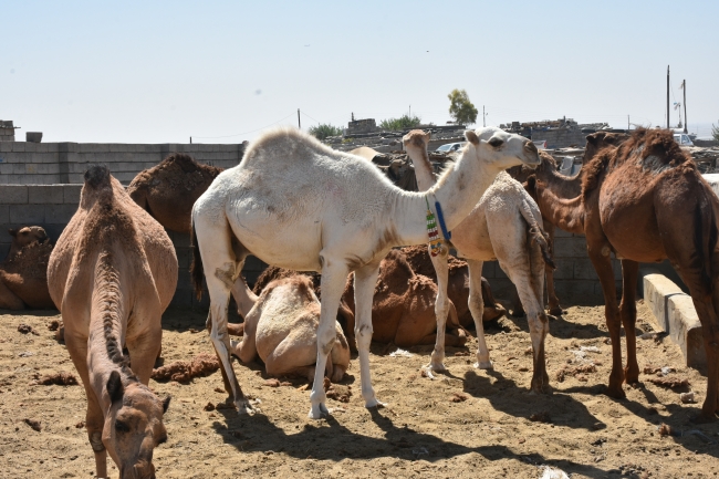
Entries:
[[[696, 420], [716, 419], [719, 199], [671, 133], [592, 134], [584, 166], [571, 178], [519, 135], [489, 127], [466, 137], [439, 177], [428, 159], [429, 135], [413, 131], [404, 137], [420, 191], [399, 189], [366, 158], [293, 128], [262, 134], [227, 170], [170, 155], [137, 175], [127, 190], [107, 168], [93, 166], [54, 248], [42, 228], [11, 231], [12, 248], [0, 264], [0, 306], [54, 303], [61, 311], [67, 351], [87, 394], [97, 476], [106, 477], [110, 452], [121, 478], [155, 477], [153, 449], [167, 438], [163, 414], [169, 397], [147, 387], [178, 272], [163, 227], [190, 232], [195, 290], [201, 294], [207, 284], [211, 343], [229, 400], [241, 413], [253, 409], [231, 356], [259, 356], [270, 375], [312, 381], [311, 418], [330, 413], [324, 378], [340, 381], [355, 351], [365, 406], [383, 404], [372, 386], [373, 339], [400, 347], [434, 344], [425, 366], [431, 375], [445, 368], [445, 346], [463, 345], [473, 325], [475, 366], [491, 368], [482, 323], [504, 309], [481, 278], [490, 260], [518, 289], [532, 340], [531, 392], [542, 393], [549, 385], [545, 275], [550, 314], [562, 313], [551, 277], [552, 238], [560, 227], [586, 236], [604, 291], [613, 351], [607, 394], [624, 397], [622, 384], [638, 381], [638, 263], [668, 258], [691, 293], [705, 334], [708, 391]], [[442, 248], [433, 256], [426, 244], [428, 218], [435, 216]], [[466, 261], [447, 254], [450, 248]], [[622, 262], [618, 305], [612, 253]], [[271, 265], [254, 291], [241, 275], [250, 254]], [[19, 274], [23, 268], [31, 273]], [[228, 323], [230, 296], [242, 324]]]

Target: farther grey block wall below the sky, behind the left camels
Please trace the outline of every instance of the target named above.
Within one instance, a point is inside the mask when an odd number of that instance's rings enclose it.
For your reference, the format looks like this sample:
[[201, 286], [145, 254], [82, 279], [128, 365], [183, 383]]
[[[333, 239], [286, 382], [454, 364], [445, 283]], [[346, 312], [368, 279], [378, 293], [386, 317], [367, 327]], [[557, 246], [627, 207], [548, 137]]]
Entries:
[[127, 185], [145, 168], [179, 152], [221, 168], [237, 165], [246, 144], [28, 143], [0, 142], [1, 185], [79, 184], [93, 163], [107, 165], [113, 176]]

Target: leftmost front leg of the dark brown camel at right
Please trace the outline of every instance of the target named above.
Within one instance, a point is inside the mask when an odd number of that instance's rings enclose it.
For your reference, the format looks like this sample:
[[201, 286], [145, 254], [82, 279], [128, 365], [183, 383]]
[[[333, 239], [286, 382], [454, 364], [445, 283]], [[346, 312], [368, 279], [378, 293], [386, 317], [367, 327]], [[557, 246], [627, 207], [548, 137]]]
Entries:
[[609, 256], [609, 246], [606, 241], [600, 240], [590, 242], [587, 235], [587, 251], [590, 260], [600, 277], [602, 291], [604, 292], [604, 315], [606, 326], [609, 330], [612, 339], [612, 373], [609, 374], [609, 387], [607, 395], [617, 399], [626, 397], [622, 389], [624, 382], [624, 369], [622, 367], [622, 322], [616, 303], [616, 282], [614, 281], [614, 270], [612, 268], [612, 257]]

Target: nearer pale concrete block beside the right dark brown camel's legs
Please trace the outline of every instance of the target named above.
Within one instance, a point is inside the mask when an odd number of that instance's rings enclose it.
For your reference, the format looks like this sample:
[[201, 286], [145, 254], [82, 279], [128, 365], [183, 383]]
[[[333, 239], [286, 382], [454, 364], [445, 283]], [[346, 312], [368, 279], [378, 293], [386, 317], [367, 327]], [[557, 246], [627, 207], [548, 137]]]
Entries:
[[701, 322], [691, 296], [676, 294], [668, 301], [669, 336], [679, 345], [686, 365], [705, 371], [707, 353], [704, 347]]

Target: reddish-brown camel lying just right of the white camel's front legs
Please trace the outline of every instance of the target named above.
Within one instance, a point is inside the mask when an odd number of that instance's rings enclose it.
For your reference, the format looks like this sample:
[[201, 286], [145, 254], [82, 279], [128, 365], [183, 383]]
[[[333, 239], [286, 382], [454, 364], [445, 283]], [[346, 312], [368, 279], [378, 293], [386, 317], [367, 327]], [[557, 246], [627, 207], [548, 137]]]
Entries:
[[[347, 278], [342, 299], [355, 310], [354, 281]], [[415, 274], [400, 250], [392, 250], [379, 263], [379, 275], [372, 301], [372, 340], [394, 343], [399, 347], [435, 344], [437, 321], [435, 298], [437, 285], [427, 277]], [[457, 329], [457, 311], [449, 302], [448, 325]], [[463, 331], [445, 334], [446, 346], [461, 346], [467, 342]]]

